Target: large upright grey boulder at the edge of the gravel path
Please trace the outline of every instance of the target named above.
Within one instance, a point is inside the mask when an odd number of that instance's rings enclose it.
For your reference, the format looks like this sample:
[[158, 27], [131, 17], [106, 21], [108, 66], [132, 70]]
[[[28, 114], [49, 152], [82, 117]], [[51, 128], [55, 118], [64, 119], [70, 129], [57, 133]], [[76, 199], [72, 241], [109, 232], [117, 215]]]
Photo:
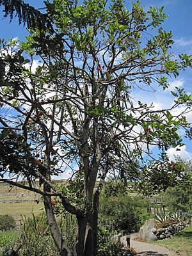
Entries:
[[155, 220], [147, 220], [143, 227], [140, 228], [139, 237], [147, 239], [148, 241], [157, 240], [157, 236], [152, 232], [153, 228], [156, 226]]

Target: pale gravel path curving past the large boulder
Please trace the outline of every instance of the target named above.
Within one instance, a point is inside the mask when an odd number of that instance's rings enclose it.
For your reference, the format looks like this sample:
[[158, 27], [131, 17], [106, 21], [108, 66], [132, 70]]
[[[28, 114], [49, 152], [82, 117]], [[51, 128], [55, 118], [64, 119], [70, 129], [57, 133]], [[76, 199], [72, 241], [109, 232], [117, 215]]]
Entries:
[[131, 247], [135, 248], [138, 256], [176, 256], [175, 252], [163, 246], [135, 241], [136, 236], [131, 236]]

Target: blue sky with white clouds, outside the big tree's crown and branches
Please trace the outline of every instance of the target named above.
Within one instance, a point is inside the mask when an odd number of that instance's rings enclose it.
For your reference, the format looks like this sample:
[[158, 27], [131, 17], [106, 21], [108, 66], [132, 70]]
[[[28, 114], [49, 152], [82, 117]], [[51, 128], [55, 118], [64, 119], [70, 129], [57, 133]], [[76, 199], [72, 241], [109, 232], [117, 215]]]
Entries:
[[[26, 0], [26, 3], [35, 6], [35, 8], [42, 7], [42, 0]], [[125, 3], [131, 3], [131, 1], [125, 1]], [[192, 54], [192, 1], [191, 0], [141, 0], [141, 4], [145, 5], [146, 10], [148, 6], [162, 6], [164, 5], [164, 12], [168, 15], [168, 19], [164, 22], [163, 28], [166, 31], [172, 31], [173, 40], [175, 41], [175, 45], [173, 47], [173, 51], [175, 55], [186, 52], [188, 54]], [[2, 8], [0, 8], [2, 11]], [[4, 38], [8, 40], [8, 38], [18, 37], [24, 40], [24, 36], [28, 35], [26, 28], [22, 25], [18, 26], [17, 18], [9, 22], [9, 18], [3, 19], [3, 12], [1, 13], [0, 18], [0, 38]], [[180, 86], [184, 87], [187, 92], [192, 92], [192, 70], [187, 70], [186, 72], [181, 72], [180, 76], [177, 79], [170, 79], [172, 86]], [[160, 91], [159, 91], [160, 92]], [[169, 92], [161, 92], [158, 91], [153, 93], [152, 101], [155, 102], [156, 106], [165, 106], [168, 105], [172, 100]], [[148, 95], [142, 93], [143, 99], [147, 100]], [[150, 98], [151, 99], [151, 98]], [[192, 122], [192, 113], [188, 115], [189, 121]], [[182, 132], [182, 131], [181, 131]], [[169, 149], [169, 156], [173, 159], [174, 154], [179, 154], [184, 159], [192, 158], [192, 145], [191, 141], [184, 140], [186, 146], [180, 148], [180, 151], [176, 151], [174, 148]]]

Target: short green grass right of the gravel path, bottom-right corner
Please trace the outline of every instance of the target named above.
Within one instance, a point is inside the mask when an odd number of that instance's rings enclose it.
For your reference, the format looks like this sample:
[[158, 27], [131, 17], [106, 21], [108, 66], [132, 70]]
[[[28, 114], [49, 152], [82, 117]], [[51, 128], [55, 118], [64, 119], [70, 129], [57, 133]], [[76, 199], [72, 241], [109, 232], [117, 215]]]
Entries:
[[177, 252], [181, 256], [192, 255], [192, 225], [185, 228], [177, 235], [173, 236], [172, 239], [165, 239], [150, 242], [153, 244], [159, 244], [164, 246], [173, 252]]

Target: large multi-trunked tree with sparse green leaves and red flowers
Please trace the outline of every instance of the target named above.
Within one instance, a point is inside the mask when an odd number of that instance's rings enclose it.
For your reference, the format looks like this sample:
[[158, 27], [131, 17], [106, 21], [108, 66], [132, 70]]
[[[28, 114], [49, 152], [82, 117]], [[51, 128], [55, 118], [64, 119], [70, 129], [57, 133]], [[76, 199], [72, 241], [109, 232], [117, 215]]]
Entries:
[[[137, 1], [129, 11], [121, 0], [45, 5], [54, 31], [31, 29], [20, 46], [1, 41], [0, 181], [44, 196], [62, 256], [72, 252], [54, 209], [76, 215], [73, 255], [96, 255], [99, 195], [108, 174], [131, 180], [146, 193], [184, 179], [182, 168], [166, 159], [166, 150], [182, 145], [180, 127], [191, 136], [184, 116], [191, 97], [177, 88], [173, 106], [156, 110], [133, 99], [131, 91], [168, 88], [168, 77], [191, 67], [191, 56], [180, 54], [176, 60], [169, 51], [173, 40], [161, 28], [163, 8], [145, 12]], [[34, 58], [42, 61], [35, 72]], [[182, 115], [176, 115], [173, 110], [181, 107]], [[152, 157], [154, 146], [159, 159]], [[56, 186], [52, 175], [67, 168], [70, 181]]]

